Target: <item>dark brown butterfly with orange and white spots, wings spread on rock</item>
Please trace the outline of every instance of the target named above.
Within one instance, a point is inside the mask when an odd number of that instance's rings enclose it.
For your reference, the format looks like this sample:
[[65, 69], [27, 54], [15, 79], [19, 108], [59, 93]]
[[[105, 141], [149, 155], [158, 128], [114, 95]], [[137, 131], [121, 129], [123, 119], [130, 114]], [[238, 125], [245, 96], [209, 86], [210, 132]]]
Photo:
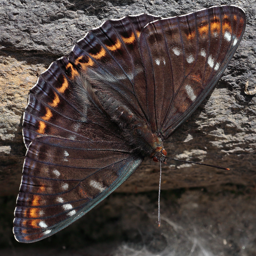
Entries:
[[107, 20], [53, 62], [29, 92], [13, 233], [60, 231], [120, 186], [195, 111], [242, 39], [235, 6]]

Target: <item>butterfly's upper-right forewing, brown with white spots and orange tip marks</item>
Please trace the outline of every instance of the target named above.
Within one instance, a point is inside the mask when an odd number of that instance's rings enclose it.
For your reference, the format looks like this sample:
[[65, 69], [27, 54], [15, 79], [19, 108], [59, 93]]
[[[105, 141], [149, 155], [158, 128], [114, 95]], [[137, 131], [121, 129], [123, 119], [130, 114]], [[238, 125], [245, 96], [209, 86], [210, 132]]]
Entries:
[[148, 113], [167, 139], [204, 100], [240, 43], [242, 9], [221, 6], [154, 21], [140, 36]]

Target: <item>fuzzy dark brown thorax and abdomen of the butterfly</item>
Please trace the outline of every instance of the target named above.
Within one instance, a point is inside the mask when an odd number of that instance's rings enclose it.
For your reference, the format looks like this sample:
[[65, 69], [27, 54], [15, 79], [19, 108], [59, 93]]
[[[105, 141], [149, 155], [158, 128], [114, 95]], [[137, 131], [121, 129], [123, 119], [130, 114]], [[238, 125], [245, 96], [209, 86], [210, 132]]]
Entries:
[[90, 86], [92, 103], [118, 126], [122, 138], [135, 152], [142, 156], [152, 156], [158, 148], [163, 148], [162, 140], [152, 131], [150, 124], [133, 113], [116, 92], [106, 88], [104, 84]]

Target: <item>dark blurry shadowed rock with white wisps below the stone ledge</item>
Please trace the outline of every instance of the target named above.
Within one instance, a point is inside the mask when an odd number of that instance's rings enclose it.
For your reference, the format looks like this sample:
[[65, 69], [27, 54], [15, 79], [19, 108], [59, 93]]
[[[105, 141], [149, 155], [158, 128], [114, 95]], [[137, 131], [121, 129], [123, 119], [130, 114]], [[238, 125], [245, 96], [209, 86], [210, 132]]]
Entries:
[[15, 198], [0, 202], [0, 255], [37, 256], [255, 256], [255, 190], [226, 185], [113, 193], [68, 228], [33, 244], [12, 235]]

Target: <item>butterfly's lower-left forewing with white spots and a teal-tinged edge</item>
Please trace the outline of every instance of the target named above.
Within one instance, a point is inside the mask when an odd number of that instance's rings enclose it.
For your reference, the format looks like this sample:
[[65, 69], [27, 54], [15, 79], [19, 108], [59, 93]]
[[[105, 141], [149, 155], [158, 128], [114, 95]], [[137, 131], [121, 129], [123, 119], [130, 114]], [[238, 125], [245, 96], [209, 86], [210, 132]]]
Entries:
[[34, 139], [14, 213], [15, 238], [31, 243], [65, 228], [121, 185], [142, 160], [118, 138], [111, 142]]

